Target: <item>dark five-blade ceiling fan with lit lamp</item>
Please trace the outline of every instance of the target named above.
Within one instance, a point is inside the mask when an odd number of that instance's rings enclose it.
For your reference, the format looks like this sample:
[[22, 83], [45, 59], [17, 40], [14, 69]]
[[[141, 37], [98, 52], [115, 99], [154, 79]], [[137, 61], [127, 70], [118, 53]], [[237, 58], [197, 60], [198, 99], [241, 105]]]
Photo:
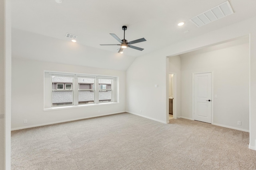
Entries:
[[136, 49], [136, 50], [140, 50], [140, 51], [144, 50], [144, 49], [142, 49], [140, 47], [135, 47], [135, 46], [133, 46], [131, 44], [140, 43], [140, 42], [147, 41], [147, 40], [144, 39], [144, 38], [141, 38], [141, 39], [136, 39], [134, 41], [127, 42], [127, 40], [125, 39], [125, 30], [126, 29], [127, 29], [126, 26], [122, 26], [122, 30], [124, 30], [124, 39], [123, 40], [118, 38], [116, 36], [116, 34], [110, 33], [110, 35], [112, 35], [112, 37], [114, 37], [114, 39], [116, 39], [121, 44], [100, 44], [100, 45], [121, 45], [121, 48], [119, 49], [118, 53], [123, 53], [123, 49], [125, 49], [127, 47], [132, 48], [132, 49]]

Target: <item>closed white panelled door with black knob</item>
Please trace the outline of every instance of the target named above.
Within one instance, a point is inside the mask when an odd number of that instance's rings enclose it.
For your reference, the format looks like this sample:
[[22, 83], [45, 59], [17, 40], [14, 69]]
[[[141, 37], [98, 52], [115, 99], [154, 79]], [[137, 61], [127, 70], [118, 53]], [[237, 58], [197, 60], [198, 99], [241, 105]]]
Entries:
[[212, 122], [212, 73], [194, 74], [194, 119]]

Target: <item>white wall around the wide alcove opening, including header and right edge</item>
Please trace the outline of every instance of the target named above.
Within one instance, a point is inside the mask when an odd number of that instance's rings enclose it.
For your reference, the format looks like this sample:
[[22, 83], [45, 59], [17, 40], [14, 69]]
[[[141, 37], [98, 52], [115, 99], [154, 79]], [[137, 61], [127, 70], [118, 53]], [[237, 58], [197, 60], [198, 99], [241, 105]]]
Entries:
[[[200, 29], [200, 28], [198, 28]], [[250, 35], [250, 145], [256, 149], [256, 17], [216, 31], [177, 42], [136, 59], [127, 70], [127, 110], [144, 117], [167, 122], [168, 72], [166, 56], [175, 56], [213, 44]], [[154, 84], [159, 88], [154, 88]]]

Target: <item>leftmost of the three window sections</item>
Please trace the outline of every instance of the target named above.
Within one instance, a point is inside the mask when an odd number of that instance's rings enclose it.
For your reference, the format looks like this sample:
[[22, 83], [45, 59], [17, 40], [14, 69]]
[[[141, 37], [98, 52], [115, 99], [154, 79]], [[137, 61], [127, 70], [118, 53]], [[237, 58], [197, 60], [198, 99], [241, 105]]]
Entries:
[[[73, 104], [72, 77], [52, 75], [52, 106], [64, 106]], [[62, 83], [58, 83], [62, 82]], [[65, 84], [65, 90], [64, 90]]]

